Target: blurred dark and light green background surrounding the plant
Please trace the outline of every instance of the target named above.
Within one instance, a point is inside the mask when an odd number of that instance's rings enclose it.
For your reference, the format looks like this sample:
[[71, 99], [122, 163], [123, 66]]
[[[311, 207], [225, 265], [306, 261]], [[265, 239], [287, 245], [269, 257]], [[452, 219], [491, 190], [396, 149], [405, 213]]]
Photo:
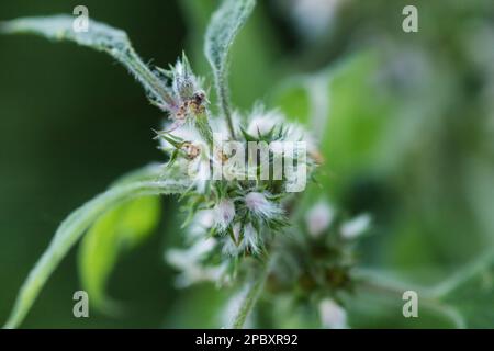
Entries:
[[[302, 121], [313, 89], [328, 102], [327, 195], [349, 213], [374, 217], [360, 247], [362, 265], [428, 284], [492, 248], [492, 1], [258, 2], [234, 48], [232, 98], [240, 109], [266, 100]], [[125, 30], [145, 59], [167, 67], [186, 49], [211, 82], [202, 37], [216, 3], [8, 0], [0, 20], [85, 4], [91, 18]], [[418, 8], [418, 33], [402, 31], [405, 4]], [[164, 159], [151, 132], [161, 117], [109, 57], [0, 36], [0, 319], [71, 210], [122, 173]], [[112, 274], [110, 295], [125, 303], [123, 316], [91, 310], [74, 318], [72, 293], [81, 288], [74, 250], [23, 326], [217, 327], [225, 292], [175, 290], [162, 260], [164, 249], [180, 242], [176, 213], [175, 200], [165, 199], [159, 230]], [[485, 303], [492, 310], [492, 298]]]

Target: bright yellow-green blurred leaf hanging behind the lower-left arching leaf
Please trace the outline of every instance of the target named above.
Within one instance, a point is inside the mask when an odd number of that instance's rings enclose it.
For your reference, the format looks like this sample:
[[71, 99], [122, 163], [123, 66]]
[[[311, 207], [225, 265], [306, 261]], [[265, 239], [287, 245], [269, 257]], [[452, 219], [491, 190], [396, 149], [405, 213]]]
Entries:
[[89, 229], [79, 248], [79, 271], [93, 306], [116, 312], [104, 290], [119, 253], [144, 241], [157, 227], [159, 217], [159, 199], [143, 196], [108, 211]]

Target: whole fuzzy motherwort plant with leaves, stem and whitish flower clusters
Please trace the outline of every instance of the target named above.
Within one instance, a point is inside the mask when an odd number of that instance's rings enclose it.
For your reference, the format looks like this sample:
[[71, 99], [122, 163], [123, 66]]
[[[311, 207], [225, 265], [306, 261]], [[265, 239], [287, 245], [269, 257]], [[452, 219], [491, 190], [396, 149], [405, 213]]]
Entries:
[[[333, 292], [350, 290], [353, 260], [347, 248], [369, 220], [335, 224], [333, 210], [322, 203], [303, 216], [305, 233], [291, 225], [296, 222], [294, 200], [316, 172], [316, 141], [279, 111], [267, 111], [261, 104], [249, 113], [233, 110], [228, 95], [228, 49], [254, 5], [254, 0], [225, 0], [211, 20], [205, 55], [214, 76], [214, 105], [186, 55], [169, 69], [149, 67], [124, 32], [105, 24], [91, 21], [89, 31], [80, 33], [72, 30], [72, 18], [65, 15], [2, 24], [4, 33], [72, 41], [111, 55], [167, 116], [156, 132], [167, 161], [123, 177], [61, 223], [22, 286], [5, 327], [22, 322], [57, 264], [85, 234], [82, 281], [93, 303], [104, 305], [102, 281], [114, 258], [98, 257], [101, 237], [134, 245], [153, 226], [153, 196], [161, 194], [179, 195], [184, 208], [188, 247], [166, 253], [167, 261], [180, 270], [177, 283], [247, 284], [232, 327], [244, 325], [262, 287], [288, 294], [296, 290], [306, 296], [316, 290], [315, 305], [322, 306], [325, 325], [336, 318], [333, 326], [344, 326], [345, 312], [334, 302]], [[138, 219], [132, 220], [133, 216]], [[88, 278], [85, 267], [93, 263], [91, 259], [103, 262], [101, 270], [106, 273]]]

